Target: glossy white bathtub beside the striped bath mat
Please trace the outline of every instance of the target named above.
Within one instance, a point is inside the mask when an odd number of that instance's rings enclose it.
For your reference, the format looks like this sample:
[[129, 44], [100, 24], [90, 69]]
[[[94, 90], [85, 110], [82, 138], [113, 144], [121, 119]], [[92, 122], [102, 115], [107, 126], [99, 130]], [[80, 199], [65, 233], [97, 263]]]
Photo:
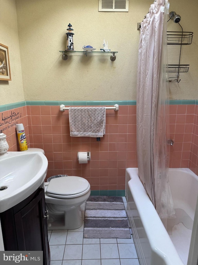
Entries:
[[[138, 168], [126, 170], [127, 216], [140, 265], [187, 264], [187, 257], [180, 258], [183, 253], [179, 256], [174, 240], [171, 240], [171, 234], [174, 225], [183, 225], [183, 223], [187, 231], [192, 230], [198, 194], [198, 176], [188, 168], [170, 168], [169, 180], [176, 218], [167, 219], [166, 230], [139, 179]], [[186, 255], [189, 246], [190, 242]]]

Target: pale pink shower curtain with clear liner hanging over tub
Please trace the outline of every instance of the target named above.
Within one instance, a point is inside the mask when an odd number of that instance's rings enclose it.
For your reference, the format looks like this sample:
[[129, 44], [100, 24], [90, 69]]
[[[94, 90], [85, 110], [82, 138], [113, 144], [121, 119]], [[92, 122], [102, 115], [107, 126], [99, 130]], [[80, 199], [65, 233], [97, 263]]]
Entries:
[[174, 216], [168, 180], [168, 8], [168, 0], [155, 1], [141, 23], [137, 71], [138, 170], [140, 180], [162, 221]]

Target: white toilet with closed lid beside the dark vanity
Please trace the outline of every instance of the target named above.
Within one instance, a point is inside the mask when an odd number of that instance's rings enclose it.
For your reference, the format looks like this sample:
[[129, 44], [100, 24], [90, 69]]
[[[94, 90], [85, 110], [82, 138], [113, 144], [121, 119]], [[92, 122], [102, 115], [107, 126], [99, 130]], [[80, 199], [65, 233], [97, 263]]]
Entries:
[[[40, 148], [28, 148], [23, 152], [42, 152]], [[79, 176], [62, 176], [45, 182], [45, 203], [50, 230], [76, 229], [82, 226], [80, 206], [90, 196], [89, 182]]]

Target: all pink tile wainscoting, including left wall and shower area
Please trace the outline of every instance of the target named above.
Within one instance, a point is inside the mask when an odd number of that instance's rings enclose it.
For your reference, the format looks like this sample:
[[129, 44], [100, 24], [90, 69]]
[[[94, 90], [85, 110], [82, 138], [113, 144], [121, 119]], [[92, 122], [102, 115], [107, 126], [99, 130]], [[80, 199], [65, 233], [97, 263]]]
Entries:
[[[58, 104], [23, 105], [0, 108], [0, 129], [7, 135], [10, 151], [18, 150], [15, 123], [23, 123], [28, 147], [45, 151], [47, 177], [82, 176], [90, 182], [93, 194], [123, 195], [126, 167], [137, 167], [135, 105], [119, 105], [118, 112], [106, 111], [106, 134], [100, 142], [70, 137], [68, 110], [60, 112]], [[170, 105], [170, 138], [174, 140], [170, 167], [189, 167], [198, 175], [198, 105]], [[91, 161], [79, 164], [78, 151], [91, 151]]]

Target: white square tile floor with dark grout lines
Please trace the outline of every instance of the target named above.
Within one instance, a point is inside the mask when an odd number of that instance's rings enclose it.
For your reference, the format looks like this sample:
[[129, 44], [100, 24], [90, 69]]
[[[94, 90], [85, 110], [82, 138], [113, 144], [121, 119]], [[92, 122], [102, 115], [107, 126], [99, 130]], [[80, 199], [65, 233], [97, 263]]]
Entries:
[[48, 232], [50, 265], [139, 265], [132, 238], [85, 239], [83, 228]]

